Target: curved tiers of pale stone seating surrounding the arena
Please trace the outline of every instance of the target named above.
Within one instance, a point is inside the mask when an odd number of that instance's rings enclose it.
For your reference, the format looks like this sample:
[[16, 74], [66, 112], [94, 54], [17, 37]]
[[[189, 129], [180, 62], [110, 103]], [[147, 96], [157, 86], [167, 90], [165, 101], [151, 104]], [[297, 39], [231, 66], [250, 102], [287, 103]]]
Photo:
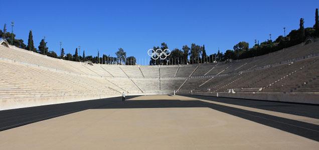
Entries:
[[189, 92], [319, 92], [319, 42], [241, 60], [186, 65], [93, 64], [0, 45], [0, 100]]

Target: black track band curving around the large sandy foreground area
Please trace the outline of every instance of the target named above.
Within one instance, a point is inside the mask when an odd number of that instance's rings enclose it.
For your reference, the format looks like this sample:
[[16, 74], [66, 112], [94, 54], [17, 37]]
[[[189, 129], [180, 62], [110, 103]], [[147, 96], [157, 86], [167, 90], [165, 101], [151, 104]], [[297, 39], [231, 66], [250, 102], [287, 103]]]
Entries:
[[221, 112], [319, 141], [319, 125], [200, 100], [127, 100], [122, 102], [119, 97], [116, 97], [5, 110], [0, 111], [0, 128], [1, 130], [5, 130], [56, 116], [82, 111], [85, 109], [167, 107], [209, 107]]

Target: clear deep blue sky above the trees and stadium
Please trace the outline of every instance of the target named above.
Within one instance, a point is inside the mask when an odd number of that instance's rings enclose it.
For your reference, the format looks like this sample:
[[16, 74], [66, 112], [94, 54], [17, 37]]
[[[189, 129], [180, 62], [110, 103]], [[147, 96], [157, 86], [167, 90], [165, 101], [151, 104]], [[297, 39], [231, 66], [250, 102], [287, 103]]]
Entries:
[[147, 49], [166, 42], [171, 50], [205, 44], [207, 54], [232, 49], [239, 41], [250, 46], [299, 26], [314, 24], [319, 0], [3, 0], [0, 25], [15, 21], [14, 33], [27, 44], [32, 29], [36, 47], [46, 36], [49, 50], [60, 54], [81, 46], [86, 55], [148, 57]]

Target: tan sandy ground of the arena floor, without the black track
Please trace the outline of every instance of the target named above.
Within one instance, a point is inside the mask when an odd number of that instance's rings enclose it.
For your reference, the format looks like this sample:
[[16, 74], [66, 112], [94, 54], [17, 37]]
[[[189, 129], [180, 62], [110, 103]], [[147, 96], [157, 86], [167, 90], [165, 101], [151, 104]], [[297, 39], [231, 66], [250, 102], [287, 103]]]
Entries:
[[[129, 100], [143, 99], [194, 100], [195, 98], [154, 95], [138, 96]], [[299, 118], [280, 112], [268, 110], [264, 112]], [[318, 147], [317, 141], [207, 107], [87, 109], [0, 132], [0, 149], [317, 149]]]

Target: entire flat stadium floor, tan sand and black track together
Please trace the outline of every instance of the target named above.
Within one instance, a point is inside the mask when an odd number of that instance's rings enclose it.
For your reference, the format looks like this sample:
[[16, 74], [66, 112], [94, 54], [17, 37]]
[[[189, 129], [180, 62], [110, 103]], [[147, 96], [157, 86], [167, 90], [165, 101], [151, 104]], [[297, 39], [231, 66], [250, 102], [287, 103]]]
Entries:
[[0, 149], [317, 149], [319, 106], [147, 95], [0, 111]]

